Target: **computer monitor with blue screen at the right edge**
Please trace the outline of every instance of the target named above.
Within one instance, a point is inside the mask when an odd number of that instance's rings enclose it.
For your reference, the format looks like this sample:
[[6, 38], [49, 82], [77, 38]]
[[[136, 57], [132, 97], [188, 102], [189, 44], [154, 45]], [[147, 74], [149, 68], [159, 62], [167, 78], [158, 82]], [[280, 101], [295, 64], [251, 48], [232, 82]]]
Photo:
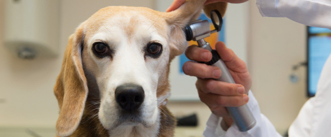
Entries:
[[323, 65], [331, 53], [331, 30], [307, 27], [307, 96], [316, 93]]

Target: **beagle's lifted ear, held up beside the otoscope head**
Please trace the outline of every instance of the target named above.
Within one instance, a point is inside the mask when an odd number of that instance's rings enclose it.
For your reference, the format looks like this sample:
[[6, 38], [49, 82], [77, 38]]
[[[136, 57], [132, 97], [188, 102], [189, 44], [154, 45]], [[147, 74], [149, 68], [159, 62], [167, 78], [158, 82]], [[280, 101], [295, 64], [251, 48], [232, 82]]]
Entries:
[[208, 5], [203, 5], [206, 0], [186, 0], [178, 9], [164, 13], [163, 17], [170, 26], [169, 46], [171, 48], [170, 59], [182, 54], [187, 48], [187, 42], [183, 27], [188, 23], [196, 20], [204, 9], [206, 15], [210, 15], [210, 11], [217, 9], [224, 15], [227, 3], [217, 2]]

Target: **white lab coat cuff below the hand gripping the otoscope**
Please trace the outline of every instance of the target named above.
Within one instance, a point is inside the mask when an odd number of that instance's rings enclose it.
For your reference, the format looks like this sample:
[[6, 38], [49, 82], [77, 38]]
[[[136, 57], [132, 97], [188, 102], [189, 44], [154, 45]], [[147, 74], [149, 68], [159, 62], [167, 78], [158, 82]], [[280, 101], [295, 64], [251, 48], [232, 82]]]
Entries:
[[211, 114], [203, 133], [204, 137], [281, 137], [270, 121], [260, 113], [260, 109], [253, 93], [249, 91], [247, 106], [252, 111], [256, 125], [247, 132], [240, 132], [235, 124], [227, 131], [220, 127], [221, 118]]

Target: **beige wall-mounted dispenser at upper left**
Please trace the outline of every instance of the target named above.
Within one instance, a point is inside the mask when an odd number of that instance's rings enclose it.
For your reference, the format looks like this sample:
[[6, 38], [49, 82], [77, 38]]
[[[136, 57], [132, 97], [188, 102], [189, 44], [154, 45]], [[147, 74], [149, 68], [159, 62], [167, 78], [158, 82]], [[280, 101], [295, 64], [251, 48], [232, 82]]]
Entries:
[[6, 0], [5, 46], [20, 58], [56, 56], [59, 0]]

